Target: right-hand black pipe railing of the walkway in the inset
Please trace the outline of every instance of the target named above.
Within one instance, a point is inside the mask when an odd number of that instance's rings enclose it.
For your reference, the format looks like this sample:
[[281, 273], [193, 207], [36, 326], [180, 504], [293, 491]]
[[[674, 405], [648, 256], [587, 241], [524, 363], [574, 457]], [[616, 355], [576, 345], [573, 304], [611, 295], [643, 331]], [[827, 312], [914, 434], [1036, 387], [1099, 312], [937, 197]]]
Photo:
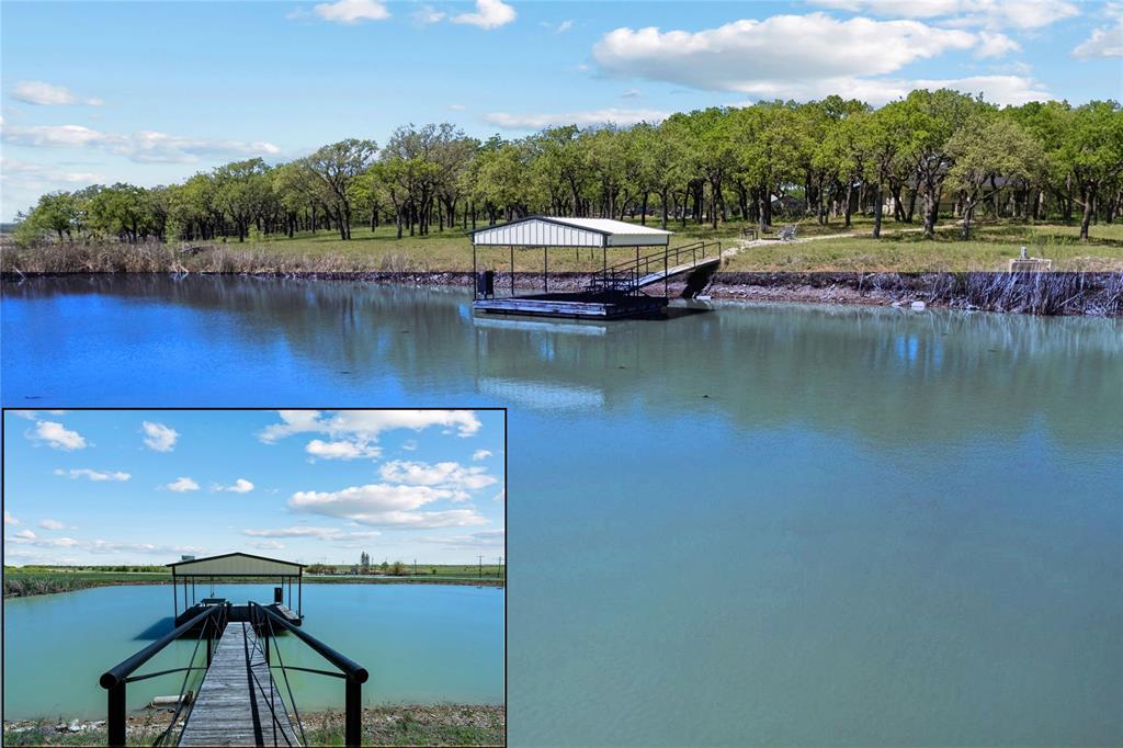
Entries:
[[[313, 673], [316, 675], [327, 675], [329, 677], [344, 678], [346, 683], [345, 700], [344, 700], [344, 745], [346, 746], [360, 745], [363, 739], [363, 723], [362, 723], [363, 684], [366, 683], [366, 679], [369, 677], [369, 674], [366, 672], [366, 668], [359, 666], [358, 663], [350, 659], [349, 657], [339, 654], [338, 651], [336, 651], [328, 645], [323, 644], [316, 637], [311, 636], [310, 633], [300, 630], [299, 628], [286, 621], [283, 617], [277, 615], [268, 608], [259, 605], [258, 603], [255, 602], [249, 603], [249, 619], [253, 622], [254, 631], [257, 632], [258, 635], [257, 636], [258, 641], [255, 642], [255, 646], [258, 648], [261, 648], [259, 641], [262, 635], [264, 633], [265, 647], [262, 650], [262, 653], [265, 656], [266, 666], [271, 671], [274, 668], [280, 669], [281, 673], [284, 675], [285, 688], [289, 692], [289, 703], [292, 704], [293, 717], [296, 718], [296, 722], [300, 726], [301, 739], [303, 740], [303, 742], [305, 745], [308, 744], [308, 741], [304, 739], [304, 726], [300, 719], [300, 712], [296, 710], [296, 702], [293, 700], [292, 696], [292, 687], [289, 685], [289, 671], [300, 671], [302, 673]], [[296, 667], [295, 665], [285, 665], [284, 657], [281, 654], [281, 648], [277, 647], [275, 644], [276, 635], [274, 632], [274, 627], [281, 627], [282, 629], [290, 631], [298, 639], [300, 639], [309, 647], [311, 647], [312, 651], [314, 651], [320, 657], [323, 657], [323, 659], [328, 660], [337, 668], [339, 668], [339, 673], [332, 673], [331, 671], [318, 671], [310, 667]], [[270, 646], [271, 640], [274, 640], [272, 647]], [[270, 662], [271, 651], [276, 653], [279, 663], [277, 665], [271, 664]], [[256, 676], [254, 676], [254, 678], [256, 682]], [[273, 688], [272, 682], [273, 678], [271, 677], [270, 678], [271, 690]], [[258, 688], [262, 690], [262, 694], [264, 695], [265, 692], [261, 683], [258, 682], [257, 685]], [[270, 699], [270, 710], [272, 711], [273, 710], [272, 692], [268, 699]], [[283, 704], [284, 700], [282, 699], [282, 705]], [[274, 723], [274, 744], [275, 744], [276, 742], [275, 729], [277, 724], [275, 714], [273, 723]], [[284, 735], [283, 730], [282, 735]], [[287, 737], [285, 737], [285, 740], [287, 741]]]

